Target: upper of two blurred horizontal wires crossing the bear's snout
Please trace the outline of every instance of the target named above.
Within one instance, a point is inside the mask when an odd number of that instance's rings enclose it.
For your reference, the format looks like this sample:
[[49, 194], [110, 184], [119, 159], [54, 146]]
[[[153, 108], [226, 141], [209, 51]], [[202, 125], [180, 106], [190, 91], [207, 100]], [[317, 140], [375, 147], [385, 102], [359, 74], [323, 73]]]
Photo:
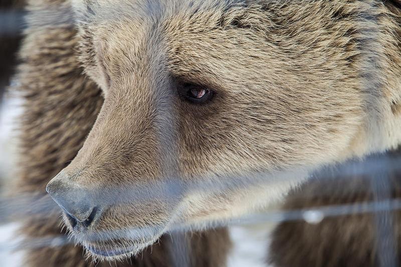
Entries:
[[[386, 156], [374, 157], [363, 162], [349, 162], [337, 167], [338, 177], [370, 177], [372, 173], [385, 171], [401, 171], [401, 157], [388, 158]], [[304, 169], [304, 168], [302, 168]], [[160, 179], [155, 183], [138, 183], [135, 185], [124, 185], [123, 187], [104, 187], [96, 192], [97, 195], [112, 196], [99, 199], [99, 205], [121, 205], [137, 201], [149, 201], [153, 199], [162, 199], [166, 203], [174, 203], [179, 196], [190, 194], [217, 194], [232, 192], [235, 190], [249, 189], [255, 186], [269, 185], [271, 183], [286, 182], [294, 179], [298, 175], [298, 168], [294, 170], [281, 171], [275, 173], [244, 173], [243, 175], [219, 176], [219, 177], [197, 177], [191, 181], [180, 178]], [[319, 180], [329, 175], [319, 172]], [[370, 179], [370, 178], [369, 178]], [[374, 176], [374, 179], [381, 179], [380, 176]], [[192, 182], [193, 180], [193, 182]], [[368, 182], [368, 181], [367, 181]], [[330, 188], [328, 190], [333, 190]], [[356, 193], [358, 188], [352, 188], [352, 193]], [[317, 191], [314, 194], [330, 193], [330, 191]], [[27, 215], [49, 215], [49, 210], [58, 210], [58, 206], [45, 192], [36, 194], [17, 195], [8, 198], [0, 198], [0, 223], [23, 217]]]

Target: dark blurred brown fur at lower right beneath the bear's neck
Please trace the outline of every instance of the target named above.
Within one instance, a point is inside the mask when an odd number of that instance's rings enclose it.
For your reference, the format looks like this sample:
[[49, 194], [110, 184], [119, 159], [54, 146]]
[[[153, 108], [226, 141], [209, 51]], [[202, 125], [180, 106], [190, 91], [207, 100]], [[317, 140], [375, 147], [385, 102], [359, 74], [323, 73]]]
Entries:
[[[350, 214], [327, 216], [316, 224], [301, 218], [280, 223], [273, 231], [269, 251], [273, 266], [400, 265], [401, 213], [399, 208], [382, 210], [379, 204], [401, 199], [401, 173], [394, 161], [399, 161], [399, 156], [398, 151], [370, 157], [365, 165], [358, 163], [351, 165], [351, 169], [347, 165], [348, 173], [344, 166], [327, 168], [294, 190], [286, 199], [284, 210], [355, 207], [348, 210]], [[374, 201], [378, 208], [375, 212], [356, 208]]]

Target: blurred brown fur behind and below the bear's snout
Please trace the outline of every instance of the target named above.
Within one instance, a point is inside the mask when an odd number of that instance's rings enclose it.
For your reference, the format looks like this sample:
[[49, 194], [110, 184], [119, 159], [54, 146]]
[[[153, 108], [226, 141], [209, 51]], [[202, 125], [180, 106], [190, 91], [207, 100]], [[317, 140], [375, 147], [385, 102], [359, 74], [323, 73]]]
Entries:
[[[51, 7], [63, 8], [44, 5], [46, 9]], [[65, 21], [68, 22], [69, 18]], [[82, 146], [103, 99], [99, 88], [82, 75], [74, 56], [76, 33], [69, 23], [46, 28], [35, 28], [31, 24], [26, 34], [22, 51], [26, 63], [20, 66], [20, 76], [23, 77], [21, 89], [26, 100], [21, 124], [21, 147], [25, 151], [21, 165], [24, 171], [17, 188], [22, 195], [45, 195], [44, 189], [50, 178], [68, 164]], [[48, 73], [52, 75], [47, 76]], [[27, 240], [58, 236], [59, 215], [60, 210], [56, 209], [53, 213], [49, 210], [27, 219], [23, 229]], [[187, 238], [187, 242], [192, 248], [192, 266], [224, 265], [230, 247], [225, 229], [194, 233]], [[173, 261], [168, 259], [168, 244], [169, 237], [162, 237], [158, 244], [129, 259], [129, 263], [113, 265], [174, 266]], [[29, 249], [25, 261], [29, 266], [103, 265], [85, 260], [82, 248], [73, 245]], [[104, 263], [105, 266], [109, 264]]]

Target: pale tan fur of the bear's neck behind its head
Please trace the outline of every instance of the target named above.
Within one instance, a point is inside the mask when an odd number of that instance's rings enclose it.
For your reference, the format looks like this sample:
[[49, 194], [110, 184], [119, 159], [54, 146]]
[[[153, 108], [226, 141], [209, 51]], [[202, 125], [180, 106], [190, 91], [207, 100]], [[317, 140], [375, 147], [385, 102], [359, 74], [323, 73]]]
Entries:
[[344, 157], [383, 152], [401, 144], [401, 9], [385, 5], [386, 12], [375, 14], [360, 38], [357, 68], [366, 116]]

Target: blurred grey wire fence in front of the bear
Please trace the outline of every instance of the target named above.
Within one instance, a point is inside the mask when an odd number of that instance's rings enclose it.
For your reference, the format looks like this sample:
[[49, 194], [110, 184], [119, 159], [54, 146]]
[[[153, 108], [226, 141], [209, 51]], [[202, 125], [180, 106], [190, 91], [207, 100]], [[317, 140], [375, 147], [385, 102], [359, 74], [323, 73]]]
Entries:
[[[63, 13], [62, 9], [57, 9], [58, 13]], [[57, 14], [57, 13], [55, 13]], [[14, 35], [24, 28], [22, 25], [24, 11], [13, 10], [0, 11], [0, 34]], [[44, 25], [57, 26], [57, 16], [47, 18]], [[63, 25], [69, 23], [62, 21]], [[374, 37], [372, 37], [374, 38]], [[369, 85], [370, 86], [370, 85]], [[369, 87], [368, 86], [368, 87]], [[1, 129], [0, 129], [1, 130]], [[165, 147], [169, 147], [166, 145]], [[167, 153], [165, 153], [167, 154]], [[166, 163], [173, 164], [173, 163]], [[232, 192], [253, 187], [266, 187], [275, 183], [285, 183], [292, 181], [294, 177], [299, 176], [299, 173], [304, 173], [310, 170], [310, 166], [299, 166], [286, 171], [272, 172], [244, 172], [236, 174], [227, 174], [224, 177], [197, 177], [196, 182], [189, 182], [180, 179], [179, 177], [165, 177], [162, 182], [135, 184], [135, 186], [124, 186], [123, 188], [103, 188], [97, 191], [96, 194], [100, 199], [101, 205], [124, 205], [135, 201], [148, 201], [154, 198], [161, 198], [165, 202], [177, 201], [177, 196], [191, 194], [218, 194], [222, 192]], [[334, 170], [334, 171], [333, 171]], [[368, 157], [360, 161], [354, 160], [344, 164], [324, 167], [321, 170], [311, 174], [314, 178], [313, 182], [318, 181], [322, 184], [319, 188], [324, 188], [325, 179], [329, 180], [327, 185], [330, 188], [327, 190], [313, 191], [313, 194], [303, 195], [302, 191], [294, 190], [298, 198], [313, 199], [330, 195], [333, 191], [347, 191], [349, 194], [365, 193], [365, 199], [358, 201], [349, 201], [347, 203], [321, 205], [317, 203], [315, 206], [303, 207], [299, 209], [271, 209], [264, 210], [258, 213], [248, 214], [241, 217], [227, 218], [224, 220], [205, 220], [197, 221], [193, 224], [188, 223], [172, 223], [169, 224], [165, 231], [175, 233], [180, 236], [180, 233], [190, 230], [205, 230], [209, 228], [226, 227], [233, 225], [253, 225], [261, 222], [286, 222], [286, 221], [304, 221], [305, 223], [318, 224], [325, 219], [337, 216], [357, 215], [370, 213], [374, 215], [374, 224], [376, 227], [377, 250], [380, 266], [397, 266], [397, 240], [394, 233], [394, 223], [398, 223], [394, 213], [401, 209], [401, 199], [398, 198], [397, 188], [394, 187], [394, 180], [397, 183], [401, 174], [401, 156], [397, 154], [379, 154]], [[347, 184], [347, 179], [352, 180], [352, 177], [359, 177], [362, 184], [368, 184], [367, 187], [338, 188], [333, 186], [333, 180], [336, 177], [342, 177], [342, 183], [338, 185], [344, 186]], [[345, 181], [345, 183], [344, 183]], [[335, 183], [334, 183], [335, 186]], [[118, 196], [112, 199], [99, 198], [101, 195]], [[344, 193], [346, 194], [346, 192]], [[102, 202], [103, 201], [103, 202]], [[52, 211], [52, 212], [49, 212]], [[58, 207], [55, 202], [44, 192], [38, 194], [17, 195], [11, 197], [2, 197], [0, 199], [0, 224], [6, 224], [12, 221], [23, 221], [24, 218], [35, 215], [46, 220], [49, 216], [57, 214]], [[179, 217], [179, 210], [175, 210], [175, 217]], [[85, 238], [90, 240], [102, 240], [102, 238], [120, 236], [122, 233], [132, 239], [141, 238], [144, 235], [153, 233], [159, 229], [153, 227], [142, 228], [124, 228], [117, 231], [107, 231], [86, 235]], [[46, 236], [42, 238], [30, 238], [24, 240], [16, 240], [13, 242], [0, 243], [0, 251], [15, 251], [32, 249], [38, 247], [58, 247], [66, 244], [75, 243], [74, 238], [68, 236]], [[180, 244], [182, 242], [177, 242]], [[173, 254], [186, 254], [185, 247], [179, 246], [173, 249]], [[176, 266], [187, 266], [188, 259], [182, 259], [175, 255], [174, 258], [180, 258], [180, 262], [176, 262]]]

